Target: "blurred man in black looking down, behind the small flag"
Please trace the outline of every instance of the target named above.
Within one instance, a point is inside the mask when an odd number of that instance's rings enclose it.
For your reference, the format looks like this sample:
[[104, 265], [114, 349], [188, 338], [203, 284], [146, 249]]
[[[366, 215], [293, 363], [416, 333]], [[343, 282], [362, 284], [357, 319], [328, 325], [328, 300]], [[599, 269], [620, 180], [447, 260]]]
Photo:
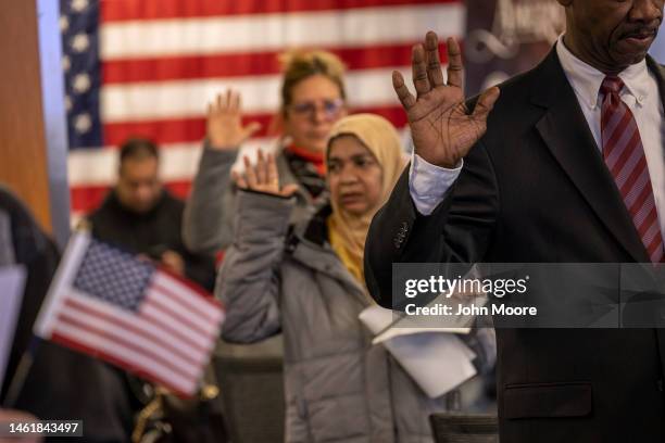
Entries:
[[162, 186], [159, 160], [158, 147], [150, 140], [135, 138], [122, 145], [117, 183], [87, 217], [92, 236], [147, 255], [212, 291], [214, 257], [185, 248], [180, 233], [185, 203]]

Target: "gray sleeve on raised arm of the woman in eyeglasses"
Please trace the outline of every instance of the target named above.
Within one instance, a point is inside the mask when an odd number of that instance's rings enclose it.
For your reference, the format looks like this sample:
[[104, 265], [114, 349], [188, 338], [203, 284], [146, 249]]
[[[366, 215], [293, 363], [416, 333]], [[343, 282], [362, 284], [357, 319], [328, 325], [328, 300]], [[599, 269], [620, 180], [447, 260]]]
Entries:
[[230, 170], [237, 155], [237, 150], [203, 145], [183, 220], [183, 239], [191, 252], [215, 254], [233, 241]]

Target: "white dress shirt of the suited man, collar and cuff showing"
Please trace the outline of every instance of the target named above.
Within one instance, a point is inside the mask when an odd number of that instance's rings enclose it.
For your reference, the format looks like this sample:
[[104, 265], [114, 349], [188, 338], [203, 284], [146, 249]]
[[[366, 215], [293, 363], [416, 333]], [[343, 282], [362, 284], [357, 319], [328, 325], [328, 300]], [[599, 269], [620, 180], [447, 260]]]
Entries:
[[[577, 96], [595, 144], [602, 149], [600, 127], [602, 98], [599, 91], [605, 74], [573, 55], [565, 47], [563, 36], [559, 37], [556, 42], [556, 54]], [[620, 92], [622, 100], [630, 107], [640, 131], [661, 232], [665, 239], [665, 149], [663, 145], [665, 119], [658, 84], [653, 73], [649, 72], [644, 60], [628, 66], [618, 76], [626, 85]], [[409, 172], [409, 189], [421, 214], [432, 213], [460, 176], [462, 167], [463, 164], [455, 169], [439, 167], [426, 162], [415, 152], [413, 153]]]

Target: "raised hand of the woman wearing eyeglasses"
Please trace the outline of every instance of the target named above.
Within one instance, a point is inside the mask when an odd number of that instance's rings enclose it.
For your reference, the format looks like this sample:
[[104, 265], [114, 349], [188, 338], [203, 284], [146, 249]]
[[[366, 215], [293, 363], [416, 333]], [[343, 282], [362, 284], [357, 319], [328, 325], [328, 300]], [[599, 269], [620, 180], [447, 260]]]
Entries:
[[217, 150], [237, 149], [261, 129], [256, 122], [242, 126], [240, 93], [227, 89], [208, 104], [206, 134], [210, 144]]

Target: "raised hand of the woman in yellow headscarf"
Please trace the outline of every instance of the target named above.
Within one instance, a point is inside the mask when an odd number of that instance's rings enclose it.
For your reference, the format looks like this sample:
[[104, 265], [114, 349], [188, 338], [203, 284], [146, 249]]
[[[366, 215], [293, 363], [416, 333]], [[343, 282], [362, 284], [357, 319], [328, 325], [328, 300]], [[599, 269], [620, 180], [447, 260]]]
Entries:
[[296, 183], [285, 187], [279, 186], [277, 165], [272, 153], [268, 153], [266, 159], [263, 151], [259, 150], [255, 165], [251, 164], [247, 155], [242, 157], [242, 161], [244, 162], [244, 173], [238, 174], [235, 170], [231, 173], [239, 188], [280, 197], [291, 197], [298, 190]]

